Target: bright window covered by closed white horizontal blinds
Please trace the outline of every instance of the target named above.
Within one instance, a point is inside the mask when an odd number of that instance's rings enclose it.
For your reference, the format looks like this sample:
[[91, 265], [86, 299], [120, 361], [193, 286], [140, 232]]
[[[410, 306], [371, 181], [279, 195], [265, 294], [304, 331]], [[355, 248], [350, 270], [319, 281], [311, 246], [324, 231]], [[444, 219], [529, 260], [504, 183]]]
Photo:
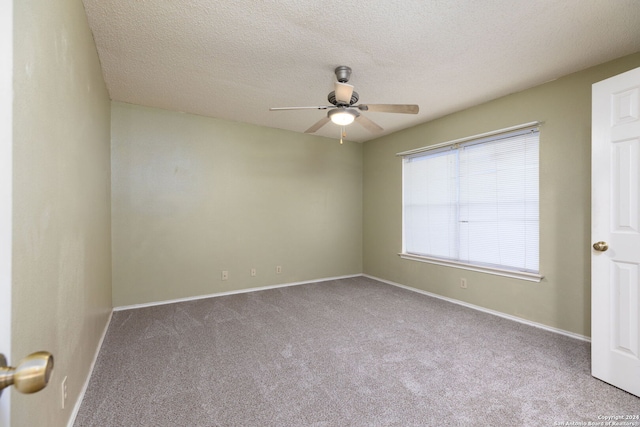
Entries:
[[405, 258], [539, 281], [538, 128], [403, 156]]

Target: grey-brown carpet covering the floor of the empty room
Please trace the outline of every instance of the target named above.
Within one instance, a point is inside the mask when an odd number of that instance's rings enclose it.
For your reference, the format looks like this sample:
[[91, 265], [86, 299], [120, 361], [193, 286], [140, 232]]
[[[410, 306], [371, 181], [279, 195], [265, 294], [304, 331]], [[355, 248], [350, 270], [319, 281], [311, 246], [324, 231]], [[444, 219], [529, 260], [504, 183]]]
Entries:
[[553, 426], [638, 414], [640, 398], [591, 377], [589, 343], [356, 277], [115, 312], [75, 426]]

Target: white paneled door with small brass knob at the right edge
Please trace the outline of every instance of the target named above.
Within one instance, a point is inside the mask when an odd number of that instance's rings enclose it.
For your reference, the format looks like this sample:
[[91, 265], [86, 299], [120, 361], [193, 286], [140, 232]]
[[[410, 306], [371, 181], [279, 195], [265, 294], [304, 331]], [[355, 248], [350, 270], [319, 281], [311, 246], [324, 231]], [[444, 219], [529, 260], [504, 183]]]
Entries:
[[592, 95], [591, 373], [640, 396], [640, 68]]

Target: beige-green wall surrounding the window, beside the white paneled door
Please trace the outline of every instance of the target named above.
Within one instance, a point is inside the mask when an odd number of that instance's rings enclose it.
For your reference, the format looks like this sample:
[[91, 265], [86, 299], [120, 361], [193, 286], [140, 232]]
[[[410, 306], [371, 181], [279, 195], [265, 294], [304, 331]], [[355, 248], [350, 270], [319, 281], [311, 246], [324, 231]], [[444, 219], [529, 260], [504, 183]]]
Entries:
[[[590, 335], [591, 85], [640, 66], [631, 55], [364, 146], [364, 272]], [[429, 106], [421, 106], [429, 108]], [[401, 159], [395, 153], [531, 121], [540, 133], [541, 283], [400, 259]], [[460, 278], [468, 289], [460, 288]]]

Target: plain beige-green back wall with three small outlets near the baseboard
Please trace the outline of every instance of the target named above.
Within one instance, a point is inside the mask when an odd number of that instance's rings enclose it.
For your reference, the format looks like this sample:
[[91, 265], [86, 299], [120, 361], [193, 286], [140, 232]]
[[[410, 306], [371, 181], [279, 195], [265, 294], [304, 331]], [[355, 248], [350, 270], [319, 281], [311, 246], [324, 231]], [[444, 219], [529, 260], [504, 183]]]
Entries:
[[116, 307], [359, 274], [362, 145], [114, 102], [112, 219]]

